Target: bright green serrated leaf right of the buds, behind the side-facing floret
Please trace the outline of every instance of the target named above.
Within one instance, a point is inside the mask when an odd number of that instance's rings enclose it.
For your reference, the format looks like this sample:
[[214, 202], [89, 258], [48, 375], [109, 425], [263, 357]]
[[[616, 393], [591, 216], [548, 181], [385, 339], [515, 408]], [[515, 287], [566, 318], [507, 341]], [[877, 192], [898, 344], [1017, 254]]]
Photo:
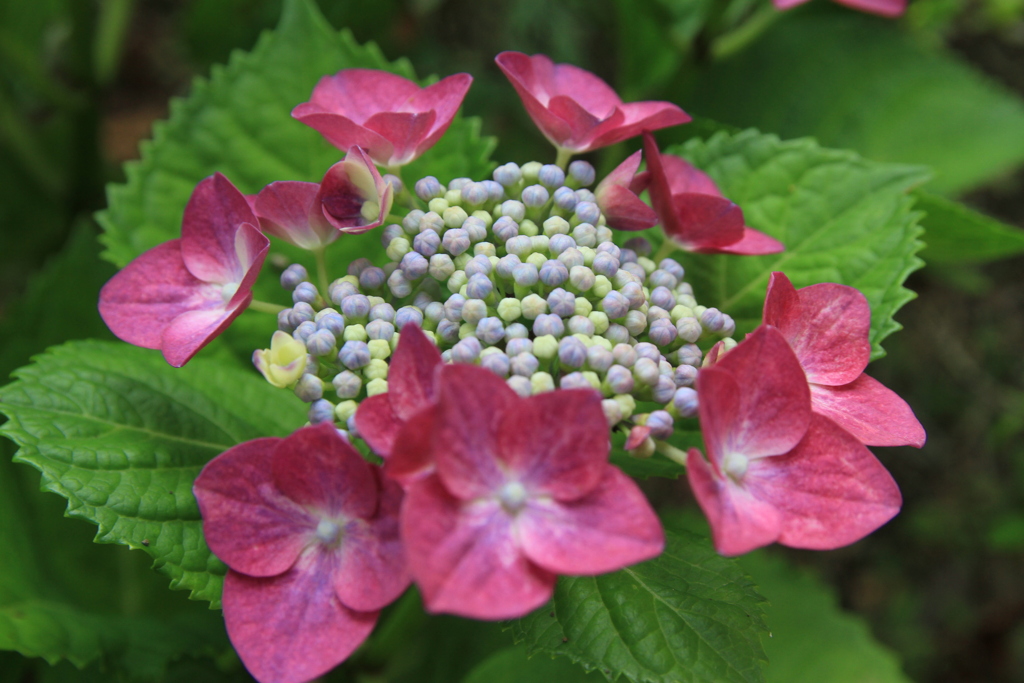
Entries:
[[893, 315], [914, 296], [903, 282], [924, 265], [914, 255], [922, 228], [908, 193], [928, 178], [925, 169], [755, 130], [718, 133], [670, 152], [707, 171], [743, 209], [748, 225], [785, 244], [783, 253], [769, 256], [681, 255], [697, 301], [749, 332], [761, 321], [773, 270], [798, 288], [850, 285], [871, 305], [872, 357], [884, 355], [880, 343], [900, 329]]

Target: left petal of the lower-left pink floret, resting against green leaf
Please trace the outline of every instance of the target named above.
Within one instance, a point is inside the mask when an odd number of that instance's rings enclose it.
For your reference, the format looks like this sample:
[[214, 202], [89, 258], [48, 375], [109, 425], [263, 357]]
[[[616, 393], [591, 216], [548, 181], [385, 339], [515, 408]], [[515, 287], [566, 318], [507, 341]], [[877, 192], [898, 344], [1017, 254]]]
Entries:
[[273, 485], [270, 460], [281, 440], [259, 438], [225, 451], [207, 463], [193, 485], [210, 550], [250, 577], [287, 571], [316, 528], [316, 521]]

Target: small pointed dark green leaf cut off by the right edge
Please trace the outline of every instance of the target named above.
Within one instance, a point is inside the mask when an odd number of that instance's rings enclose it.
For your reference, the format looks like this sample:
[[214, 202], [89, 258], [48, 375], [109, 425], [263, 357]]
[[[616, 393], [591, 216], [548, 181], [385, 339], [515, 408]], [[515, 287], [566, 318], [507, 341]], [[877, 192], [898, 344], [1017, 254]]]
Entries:
[[915, 193], [929, 263], [984, 263], [1024, 253], [1024, 230], [925, 190]]

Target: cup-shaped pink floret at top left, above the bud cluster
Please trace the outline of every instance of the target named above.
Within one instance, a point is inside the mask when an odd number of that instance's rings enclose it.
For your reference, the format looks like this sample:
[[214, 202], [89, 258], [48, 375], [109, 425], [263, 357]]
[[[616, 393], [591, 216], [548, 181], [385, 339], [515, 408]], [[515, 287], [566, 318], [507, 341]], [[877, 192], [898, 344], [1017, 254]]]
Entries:
[[402, 166], [440, 139], [472, 82], [455, 74], [421, 88], [388, 72], [345, 69], [322, 78], [292, 116], [339, 150], [359, 146], [378, 164]]

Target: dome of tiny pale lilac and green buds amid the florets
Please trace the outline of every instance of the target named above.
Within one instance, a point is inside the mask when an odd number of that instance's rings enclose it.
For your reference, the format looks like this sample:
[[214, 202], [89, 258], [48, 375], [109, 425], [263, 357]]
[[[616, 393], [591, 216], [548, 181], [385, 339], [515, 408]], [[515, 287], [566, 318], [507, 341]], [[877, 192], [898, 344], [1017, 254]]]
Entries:
[[[568, 172], [505, 164], [492, 180], [428, 176], [415, 184], [426, 210], [383, 229], [388, 262], [365, 258], [318, 291], [305, 268], [285, 269], [293, 305], [279, 329], [308, 353], [295, 393], [312, 423], [353, 429], [357, 400], [387, 390], [401, 329], [419, 326], [446, 362], [476, 364], [520, 395], [594, 388], [612, 427], [644, 424], [671, 435], [697, 410], [705, 346], [735, 345], [732, 318], [697, 303], [683, 267], [655, 263], [644, 239], [612, 241], [587, 186], [594, 168]], [[335, 398], [329, 398], [328, 387]], [[663, 410], [638, 414], [638, 401]]]

